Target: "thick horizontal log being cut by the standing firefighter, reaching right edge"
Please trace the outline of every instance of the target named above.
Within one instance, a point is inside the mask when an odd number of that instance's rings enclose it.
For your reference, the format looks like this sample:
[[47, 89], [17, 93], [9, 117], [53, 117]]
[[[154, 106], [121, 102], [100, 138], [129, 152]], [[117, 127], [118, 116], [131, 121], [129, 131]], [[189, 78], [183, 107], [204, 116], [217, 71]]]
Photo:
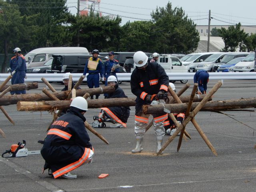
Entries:
[[[200, 102], [192, 104], [192, 110], [198, 106]], [[144, 114], [158, 114], [163, 112], [164, 107], [171, 111], [171, 113], [185, 112], [188, 104], [165, 104], [155, 106], [143, 106]], [[223, 100], [223, 101], [210, 101], [207, 102], [200, 111], [228, 111], [231, 109], [244, 109], [244, 108], [255, 108], [256, 98], [238, 99], [238, 100]]]

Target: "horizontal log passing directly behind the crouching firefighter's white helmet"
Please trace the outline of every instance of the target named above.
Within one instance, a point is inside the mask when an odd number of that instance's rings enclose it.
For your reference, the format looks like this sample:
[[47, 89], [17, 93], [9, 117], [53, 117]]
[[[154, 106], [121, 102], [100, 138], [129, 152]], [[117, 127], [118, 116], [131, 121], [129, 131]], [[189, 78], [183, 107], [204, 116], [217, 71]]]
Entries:
[[[76, 90], [78, 92], [79, 90]], [[54, 94], [54, 93], [53, 93]], [[182, 98], [182, 96], [181, 96]], [[184, 96], [186, 102], [189, 97]], [[202, 100], [204, 96], [198, 97], [198, 100]], [[1, 99], [0, 99], [1, 100]], [[135, 98], [110, 98], [110, 99], [92, 99], [88, 100], [88, 108], [102, 108], [102, 107], [129, 107], [135, 106]], [[50, 111], [54, 108], [62, 110], [69, 108], [70, 100], [61, 101], [42, 101], [42, 102], [25, 102], [19, 101], [17, 103], [18, 111]]]

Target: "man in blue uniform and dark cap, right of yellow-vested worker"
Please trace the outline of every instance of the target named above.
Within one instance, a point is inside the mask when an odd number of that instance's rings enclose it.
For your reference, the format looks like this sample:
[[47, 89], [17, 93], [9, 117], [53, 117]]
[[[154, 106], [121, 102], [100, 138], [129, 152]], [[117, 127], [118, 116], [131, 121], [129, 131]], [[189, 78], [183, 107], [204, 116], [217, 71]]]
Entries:
[[[119, 62], [114, 59], [114, 51], [108, 52], [108, 58], [109, 59], [103, 64], [103, 77], [105, 80], [105, 86], [108, 85], [108, 77], [110, 75], [114, 75], [117, 79], [116, 72], [119, 72], [119, 68], [114, 69], [114, 66], [119, 64]], [[104, 96], [105, 98], [107, 98], [108, 94], [105, 93]]]

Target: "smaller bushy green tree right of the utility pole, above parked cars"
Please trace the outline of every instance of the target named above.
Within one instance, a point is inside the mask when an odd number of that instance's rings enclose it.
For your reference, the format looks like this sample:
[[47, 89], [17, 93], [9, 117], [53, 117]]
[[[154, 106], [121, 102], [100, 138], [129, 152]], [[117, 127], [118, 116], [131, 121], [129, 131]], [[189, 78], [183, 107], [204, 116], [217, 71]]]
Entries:
[[236, 51], [236, 48], [239, 46], [240, 51], [246, 49], [245, 41], [248, 36], [248, 33], [244, 32], [244, 29], [241, 28], [241, 23], [236, 24], [235, 26], [229, 26], [228, 29], [221, 27], [218, 29], [220, 37], [222, 37], [225, 47], [222, 51]]

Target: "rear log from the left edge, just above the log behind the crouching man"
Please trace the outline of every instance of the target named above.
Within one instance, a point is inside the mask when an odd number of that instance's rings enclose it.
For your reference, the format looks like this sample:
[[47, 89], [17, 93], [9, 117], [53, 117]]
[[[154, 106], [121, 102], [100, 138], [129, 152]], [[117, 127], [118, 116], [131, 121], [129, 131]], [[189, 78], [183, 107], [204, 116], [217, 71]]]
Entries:
[[[103, 93], [112, 93], [115, 88], [111, 86], [103, 86], [92, 89], [79, 89], [76, 90], [76, 96], [84, 96], [85, 93], [89, 93], [90, 95], [103, 94]], [[68, 97], [68, 94], [71, 91], [61, 91], [54, 92], [54, 96], [56, 96], [59, 100], [65, 100]], [[48, 101], [51, 100], [46, 94], [20, 94], [20, 95], [7, 95], [0, 98], [0, 106], [17, 104], [18, 101]]]

